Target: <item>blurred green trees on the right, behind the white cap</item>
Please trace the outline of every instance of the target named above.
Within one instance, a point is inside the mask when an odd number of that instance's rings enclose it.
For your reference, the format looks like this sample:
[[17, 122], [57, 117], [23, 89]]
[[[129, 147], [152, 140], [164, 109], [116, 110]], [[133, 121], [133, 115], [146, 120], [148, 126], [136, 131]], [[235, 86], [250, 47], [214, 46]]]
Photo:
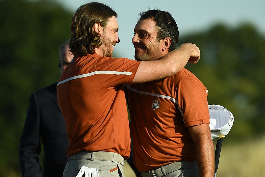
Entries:
[[265, 132], [265, 37], [252, 24], [210, 30], [180, 37], [201, 50], [196, 65], [186, 65], [207, 87], [208, 104], [231, 111], [235, 122], [226, 139], [243, 140]]

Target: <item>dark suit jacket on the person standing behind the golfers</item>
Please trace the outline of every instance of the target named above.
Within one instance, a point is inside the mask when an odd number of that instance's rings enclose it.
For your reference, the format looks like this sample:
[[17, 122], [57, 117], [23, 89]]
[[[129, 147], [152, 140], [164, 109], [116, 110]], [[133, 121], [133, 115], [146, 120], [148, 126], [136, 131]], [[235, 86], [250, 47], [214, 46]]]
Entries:
[[[69, 141], [59, 109], [54, 83], [32, 93], [19, 147], [23, 177], [62, 176], [67, 163]], [[39, 164], [41, 142], [44, 149], [44, 173]]]

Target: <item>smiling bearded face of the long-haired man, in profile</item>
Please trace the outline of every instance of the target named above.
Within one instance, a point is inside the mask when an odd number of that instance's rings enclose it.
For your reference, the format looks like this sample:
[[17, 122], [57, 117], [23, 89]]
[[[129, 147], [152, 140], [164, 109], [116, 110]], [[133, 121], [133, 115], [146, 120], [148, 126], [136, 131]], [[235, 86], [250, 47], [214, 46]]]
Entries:
[[116, 43], [120, 42], [118, 37], [119, 25], [117, 19], [113, 16], [109, 19], [106, 27], [103, 29], [101, 52], [103, 56], [112, 57], [113, 49]]

